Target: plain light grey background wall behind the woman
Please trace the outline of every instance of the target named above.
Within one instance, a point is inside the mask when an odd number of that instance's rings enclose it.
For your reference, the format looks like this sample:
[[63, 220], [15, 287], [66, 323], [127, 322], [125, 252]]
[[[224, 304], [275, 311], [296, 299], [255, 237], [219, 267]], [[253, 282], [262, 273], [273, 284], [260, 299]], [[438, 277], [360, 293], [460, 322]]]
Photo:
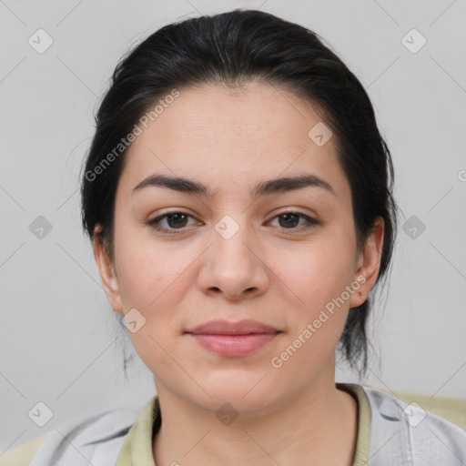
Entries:
[[[123, 377], [125, 340], [81, 230], [79, 170], [98, 97], [128, 47], [169, 22], [237, 7], [313, 29], [360, 78], [394, 160], [400, 227], [419, 219], [400, 228], [362, 381], [466, 399], [464, 1], [0, 0], [0, 450], [154, 394], [140, 360]], [[54, 41], [42, 54], [28, 43], [39, 28]], [[427, 40], [416, 53], [405, 46], [420, 45], [413, 28]], [[38, 216], [52, 226], [43, 238], [29, 228]], [[359, 381], [344, 366], [337, 380]], [[42, 428], [28, 416], [38, 401], [54, 413]]]

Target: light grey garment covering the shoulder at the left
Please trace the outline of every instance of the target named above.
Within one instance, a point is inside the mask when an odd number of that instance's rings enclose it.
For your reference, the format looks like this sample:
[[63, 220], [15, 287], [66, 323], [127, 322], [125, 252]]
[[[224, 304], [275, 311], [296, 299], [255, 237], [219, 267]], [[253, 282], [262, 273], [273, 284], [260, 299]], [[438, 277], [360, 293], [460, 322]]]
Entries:
[[0, 466], [108, 466], [117, 459], [137, 414], [134, 408], [117, 408], [76, 415], [54, 431], [0, 453]]

